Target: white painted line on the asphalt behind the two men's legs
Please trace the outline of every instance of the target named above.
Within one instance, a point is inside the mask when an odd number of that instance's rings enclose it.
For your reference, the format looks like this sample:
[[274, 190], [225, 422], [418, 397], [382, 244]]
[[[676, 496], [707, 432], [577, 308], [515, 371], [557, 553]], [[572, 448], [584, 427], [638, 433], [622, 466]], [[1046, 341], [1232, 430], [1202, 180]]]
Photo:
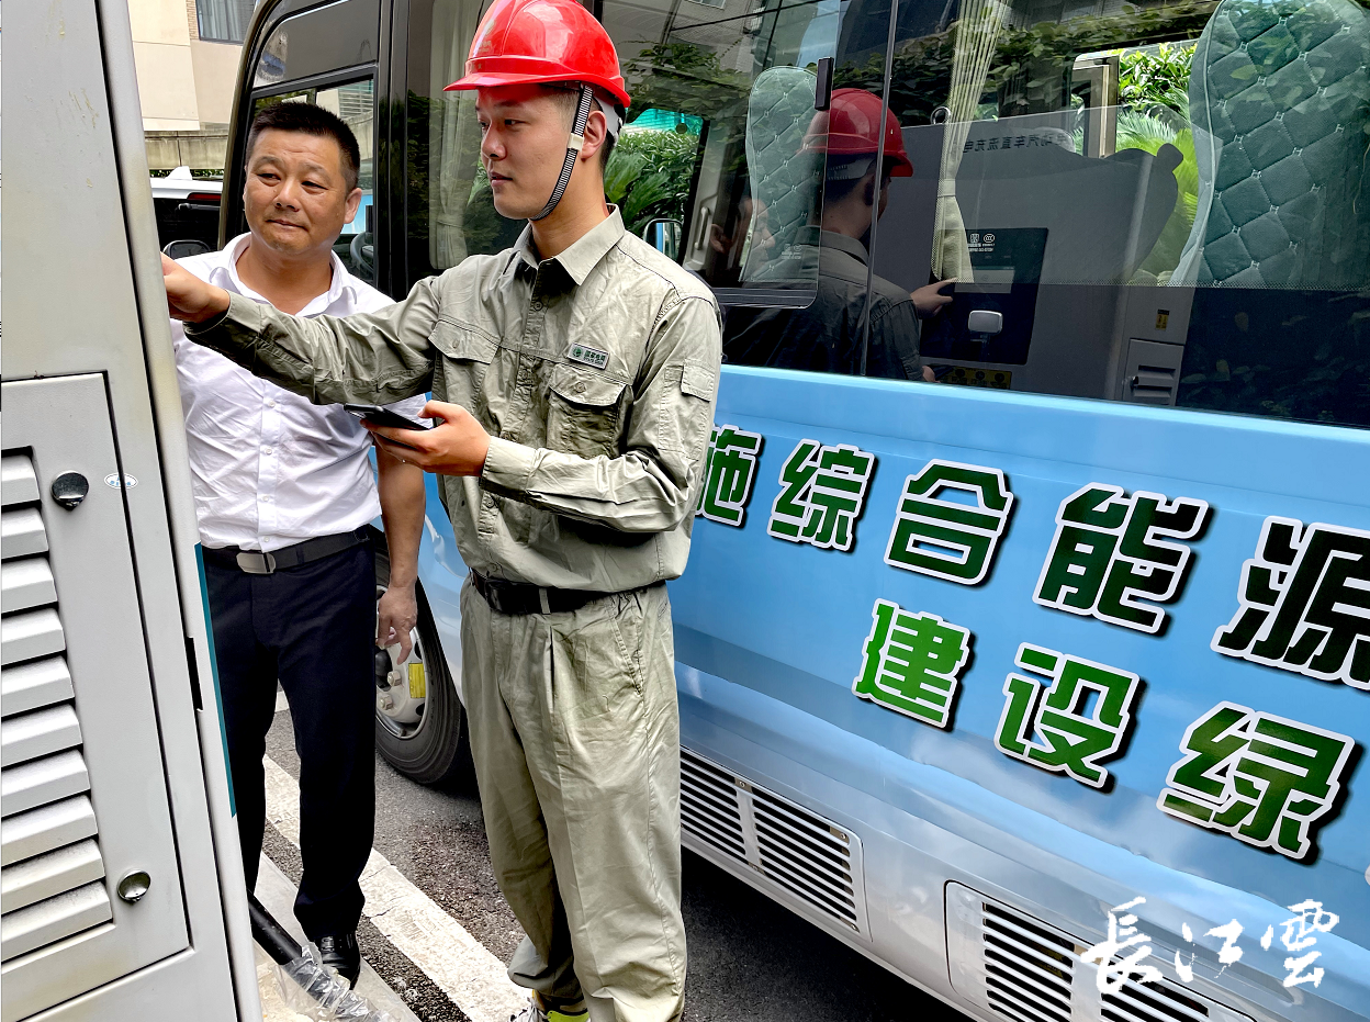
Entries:
[[[300, 844], [300, 786], [267, 756], [266, 818]], [[453, 863], [455, 867], [455, 863]], [[362, 871], [363, 914], [432, 980], [471, 1022], [507, 1022], [527, 1004], [504, 963], [374, 848]]]

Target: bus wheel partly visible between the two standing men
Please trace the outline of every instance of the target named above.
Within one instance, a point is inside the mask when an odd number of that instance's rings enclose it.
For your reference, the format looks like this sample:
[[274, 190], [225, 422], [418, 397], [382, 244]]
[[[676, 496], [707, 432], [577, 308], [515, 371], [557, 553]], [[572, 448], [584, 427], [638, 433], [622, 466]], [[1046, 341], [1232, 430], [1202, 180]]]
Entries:
[[[378, 549], [375, 596], [389, 581], [389, 562]], [[384, 562], [384, 564], [382, 564]], [[466, 710], [447, 669], [423, 585], [415, 586], [418, 625], [410, 659], [392, 663], [388, 686], [375, 690], [375, 748], [385, 760], [419, 784], [441, 784], [471, 771], [466, 745]]]

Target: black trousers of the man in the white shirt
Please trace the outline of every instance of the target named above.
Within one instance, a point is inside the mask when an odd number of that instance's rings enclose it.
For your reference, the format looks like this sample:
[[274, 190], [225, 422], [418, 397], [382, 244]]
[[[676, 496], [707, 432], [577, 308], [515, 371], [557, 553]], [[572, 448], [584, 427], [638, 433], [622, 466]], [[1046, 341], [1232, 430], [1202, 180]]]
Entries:
[[311, 940], [356, 929], [375, 827], [375, 563], [370, 544], [270, 575], [204, 566], [248, 890], [266, 826], [262, 756], [277, 680], [300, 753], [295, 915]]

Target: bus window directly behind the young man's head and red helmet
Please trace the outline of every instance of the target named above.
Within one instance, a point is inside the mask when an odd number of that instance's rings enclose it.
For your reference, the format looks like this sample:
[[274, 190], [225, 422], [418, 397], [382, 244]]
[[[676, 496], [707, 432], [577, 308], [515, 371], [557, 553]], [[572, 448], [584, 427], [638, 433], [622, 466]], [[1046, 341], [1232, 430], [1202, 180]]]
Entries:
[[[500, 251], [523, 227], [490, 201], [474, 95], [443, 92], [462, 75], [485, 7], [415, 0], [410, 8], [411, 279]], [[607, 196], [629, 230], [671, 251], [725, 304], [812, 297], [812, 269], [780, 256], [819, 190], [821, 160], [799, 148], [814, 115], [817, 64], [836, 48], [836, 4], [827, 7], [603, 3], [633, 97], [606, 173]], [[762, 141], [749, 148], [748, 125], [762, 121], [764, 133], [754, 132]]]

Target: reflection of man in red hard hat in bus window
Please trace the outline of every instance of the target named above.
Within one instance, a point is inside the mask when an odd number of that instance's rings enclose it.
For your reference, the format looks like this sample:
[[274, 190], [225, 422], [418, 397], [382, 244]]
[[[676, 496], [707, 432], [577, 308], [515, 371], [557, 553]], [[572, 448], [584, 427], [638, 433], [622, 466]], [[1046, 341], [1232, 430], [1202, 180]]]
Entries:
[[949, 281], [910, 295], [871, 275], [870, 290], [866, 288], [873, 219], [889, 204], [891, 179], [914, 173], [899, 121], [888, 110], [882, 118], [880, 96], [864, 89], [836, 89], [830, 108], [814, 115], [800, 152], [826, 163], [822, 219], [800, 232], [789, 253], [804, 267], [777, 263], [774, 271], [800, 279], [817, 277], [818, 295], [806, 308], [730, 315], [729, 360], [815, 373], [933, 378], [918, 353], [918, 319], [936, 315], [951, 301], [940, 292]]

